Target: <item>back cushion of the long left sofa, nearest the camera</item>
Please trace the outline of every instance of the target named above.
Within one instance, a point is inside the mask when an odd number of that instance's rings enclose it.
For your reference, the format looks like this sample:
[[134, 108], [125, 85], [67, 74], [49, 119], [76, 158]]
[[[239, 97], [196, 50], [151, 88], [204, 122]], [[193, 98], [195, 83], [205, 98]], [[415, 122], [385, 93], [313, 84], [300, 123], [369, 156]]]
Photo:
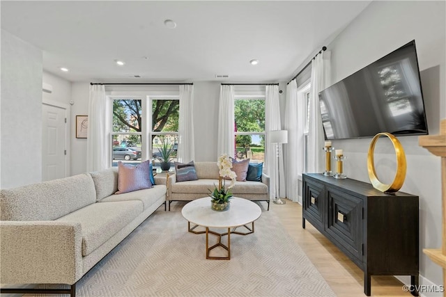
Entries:
[[96, 201], [89, 173], [1, 189], [1, 220], [55, 220]]

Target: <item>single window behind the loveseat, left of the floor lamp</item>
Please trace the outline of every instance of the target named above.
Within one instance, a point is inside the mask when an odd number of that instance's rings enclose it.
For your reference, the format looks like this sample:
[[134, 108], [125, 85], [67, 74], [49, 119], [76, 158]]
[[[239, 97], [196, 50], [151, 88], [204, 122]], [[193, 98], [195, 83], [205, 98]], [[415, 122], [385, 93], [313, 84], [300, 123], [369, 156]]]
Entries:
[[265, 97], [236, 95], [234, 143], [237, 159], [265, 160]]

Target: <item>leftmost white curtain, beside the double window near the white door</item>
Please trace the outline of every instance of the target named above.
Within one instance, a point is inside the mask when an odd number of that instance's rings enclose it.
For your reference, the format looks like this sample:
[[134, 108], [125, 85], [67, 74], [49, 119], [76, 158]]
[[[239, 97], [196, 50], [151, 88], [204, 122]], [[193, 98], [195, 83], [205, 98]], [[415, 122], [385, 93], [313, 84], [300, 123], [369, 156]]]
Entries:
[[104, 85], [90, 86], [89, 124], [86, 139], [86, 170], [98, 171], [110, 167], [112, 161], [109, 102]]

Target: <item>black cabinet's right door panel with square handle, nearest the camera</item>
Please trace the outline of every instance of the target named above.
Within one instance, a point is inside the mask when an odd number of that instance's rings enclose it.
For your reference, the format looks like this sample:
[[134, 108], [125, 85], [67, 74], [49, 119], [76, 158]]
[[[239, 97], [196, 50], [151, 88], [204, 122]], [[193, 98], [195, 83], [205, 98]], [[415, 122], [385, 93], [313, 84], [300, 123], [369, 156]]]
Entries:
[[337, 243], [362, 261], [362, 199], [327, 188], [325, 230]]

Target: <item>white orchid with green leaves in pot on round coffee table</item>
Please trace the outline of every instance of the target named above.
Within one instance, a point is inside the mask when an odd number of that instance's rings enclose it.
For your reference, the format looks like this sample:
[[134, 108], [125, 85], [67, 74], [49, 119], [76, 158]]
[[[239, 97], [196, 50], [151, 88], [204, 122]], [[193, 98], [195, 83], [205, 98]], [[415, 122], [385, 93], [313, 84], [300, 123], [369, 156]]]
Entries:
[[[236, 172], [231, 170], [232, 162], [227, 154], [222, 154], [217, 161], [220, 177], [218, 178], [218, 186], [215, 186], [214, 191], [210, 191], [209, 195], [210, 207], [215, 211], [226, 211], [229, 209], [232, 193], [231, 188], [236, 184]], [[226, 189], [223, 177], [231, 179], [231, 185]]]

